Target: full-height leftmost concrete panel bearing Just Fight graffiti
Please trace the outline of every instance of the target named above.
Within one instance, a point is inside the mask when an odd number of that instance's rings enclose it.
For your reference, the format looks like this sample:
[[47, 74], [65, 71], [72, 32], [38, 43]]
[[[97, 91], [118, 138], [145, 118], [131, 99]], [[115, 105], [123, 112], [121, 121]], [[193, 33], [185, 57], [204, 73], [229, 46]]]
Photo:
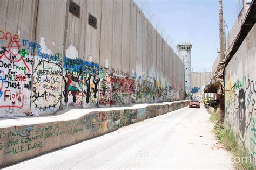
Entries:
[[[26, 40], [35, 42], [37, 1], [1, 1], [0, 5], [0, 112], [3, 117], [11, 114], [24, 116], [30, 114], [31, 75], [33, 60], [29, 55], [19, 54], [23, 46], [33, 53]], [[4, 66], [5, 65], [5, 66]], [[16, 70], [20, 69], [20, 70]], [[22, 68], [22, 70], [21, 70]], [[16, 71], [16, 72], [15, 72]], [[17, 74], [25, 76], [23, 84], [12, 79]], [[10, 77], [8, 79], [8, 77]], [[14, 80], [14, 81], [12, 81]], [[12, 85], [10, 87], [10, 85]], [[22, 87], [26, 84], [26, 88]], [[19, 100], [15, 102], [16, 97]], [[9, 97], [9, 96], [14, 96]]]

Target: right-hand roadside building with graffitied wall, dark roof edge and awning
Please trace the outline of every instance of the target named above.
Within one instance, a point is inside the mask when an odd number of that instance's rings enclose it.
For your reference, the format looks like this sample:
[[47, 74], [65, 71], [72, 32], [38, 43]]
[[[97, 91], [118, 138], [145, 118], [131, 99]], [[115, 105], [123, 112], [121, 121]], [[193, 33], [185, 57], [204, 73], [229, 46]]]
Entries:
[[226, 38], [226, 58], [213, 65], [212, 83], [204, 91], [217, 93], [223, 75], [225, 119], [238, 143], [247, 148], [256, 165], [256, 1], [239, 1], [238, 18]]

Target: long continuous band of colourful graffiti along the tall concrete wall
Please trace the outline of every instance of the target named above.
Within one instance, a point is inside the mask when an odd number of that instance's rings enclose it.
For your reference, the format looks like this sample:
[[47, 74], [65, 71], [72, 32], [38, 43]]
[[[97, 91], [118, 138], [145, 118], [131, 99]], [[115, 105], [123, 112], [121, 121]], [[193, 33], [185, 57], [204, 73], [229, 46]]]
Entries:
[[[161, 74], [144, 78], [135, 72], [99, 66], [78, 56], [52, 54], [43, 44], [1, 33], [0, 111], [45, 115], [63, 107], [101, 107], [181, 100], [182, 86], [174, 87]], [[1, 114], [0, 116], [2, 116]]]

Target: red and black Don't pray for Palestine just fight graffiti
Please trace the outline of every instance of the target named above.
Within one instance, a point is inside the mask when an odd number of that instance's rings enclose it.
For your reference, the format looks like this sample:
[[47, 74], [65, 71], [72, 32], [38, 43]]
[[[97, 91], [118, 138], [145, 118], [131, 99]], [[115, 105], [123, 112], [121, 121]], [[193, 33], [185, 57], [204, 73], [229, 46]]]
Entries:
[[0, 31], [0, 41], [0, 111], [28, 115], [32, 56], [17, 34]]

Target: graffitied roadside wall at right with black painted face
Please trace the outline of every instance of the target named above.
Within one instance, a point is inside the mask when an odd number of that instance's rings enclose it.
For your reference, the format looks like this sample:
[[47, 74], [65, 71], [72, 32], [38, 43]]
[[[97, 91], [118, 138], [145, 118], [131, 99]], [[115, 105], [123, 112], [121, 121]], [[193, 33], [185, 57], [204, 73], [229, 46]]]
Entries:
[[225, 68], [225, 125], [256, 165], [256, 24]]

